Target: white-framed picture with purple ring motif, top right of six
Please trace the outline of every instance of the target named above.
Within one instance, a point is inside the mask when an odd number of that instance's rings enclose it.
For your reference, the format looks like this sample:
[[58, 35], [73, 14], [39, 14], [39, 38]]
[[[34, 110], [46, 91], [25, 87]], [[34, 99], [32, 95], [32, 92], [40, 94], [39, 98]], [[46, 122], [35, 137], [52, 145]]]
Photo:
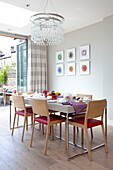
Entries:
[[89, 44], [80, 47], [80, 60], [89, 59]]

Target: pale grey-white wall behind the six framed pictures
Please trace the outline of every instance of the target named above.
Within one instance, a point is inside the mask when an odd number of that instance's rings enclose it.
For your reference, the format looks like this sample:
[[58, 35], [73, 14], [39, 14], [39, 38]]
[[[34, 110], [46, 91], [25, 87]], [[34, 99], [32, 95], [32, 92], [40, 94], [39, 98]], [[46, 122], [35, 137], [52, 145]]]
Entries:
[[[90, 44], [91, 74], [80, 76], [79, 47]], [[58, 50], [64, 50], [64, 66], [66, 66], [66, 50], [76, 48], [76, 75], [56, 76], [56, 56]], [[60, 92], [93, 94], [93, 98], [107, 98], [108, 119], [113, 123], [113, 16], [102, 22], [65, 34], [64, 42], [59, 46], [51, 46], [48, 50], [48, 87]]]

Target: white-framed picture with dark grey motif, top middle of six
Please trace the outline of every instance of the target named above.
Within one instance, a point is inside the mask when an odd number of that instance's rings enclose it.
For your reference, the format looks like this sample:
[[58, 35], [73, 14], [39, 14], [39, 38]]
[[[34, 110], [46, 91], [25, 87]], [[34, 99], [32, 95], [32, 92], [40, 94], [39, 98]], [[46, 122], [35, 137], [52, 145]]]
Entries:
[[67, 62], [75, 61], [75, 48], [67, 50]]

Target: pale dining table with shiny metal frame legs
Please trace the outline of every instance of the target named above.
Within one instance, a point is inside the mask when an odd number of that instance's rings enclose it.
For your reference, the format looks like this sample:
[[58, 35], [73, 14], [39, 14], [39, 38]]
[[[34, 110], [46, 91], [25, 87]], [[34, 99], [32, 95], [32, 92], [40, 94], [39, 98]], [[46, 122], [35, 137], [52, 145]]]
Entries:
[[[31, 97], [25, 97], [24, 100], [25, 100], [25, 104], [29, 104], [31, 105]], [[88, 102], [86, 102], [88, 103]], [[11, 122], [12, 122], [12, 117], [11, 117], [11, 105], [12, 105], [12, 99], [10, 100], [10, 129], [12, 129], [11, 127]], [[75, 109], [72, 105], [68, 105], [68, 104], [62, 104], [62, 103], [59, 103], [57, 101], [50, 101], [48, 100], [48, 109], [49, 110], [54, 110], [54, 111], [57, 111], [57, 112], [63, 112], [65, 113], [66, 115], [66, 145], [67, 145], [67, 155], [68, 155], [68, 160], [71, 158], [69, 156], [69, 124], [68, 124], [68, 120], [69, 120], [69, 114], [70, 113], [75, 113]], [[75, 113], [76, 115], [76, 113]], [[106, 139], [107, 139], [107, 101], [106, 101], [106, 108], [105, 108], [105, 136], [106, 136]], [[75, 144], [74, 144], [75, 145]], [[101, 144], [99, 147], [103, 146], [104, 144]], [[80, 146], [81, 148], [83, 148], [83, 146]], [[97, 147], [96, 147], [97, 148]], [[94, 148], [94, 149], [96, 149]], [[84, 149], [84, 148], [83, 148]], [[92, 149], [93, 150], [93, 149]], [[84, 152], [82, 152], [82, 154], [84, 153], [87, 153], [86, 149]], [[77, 154], [78, 156], [79, 154]]]

